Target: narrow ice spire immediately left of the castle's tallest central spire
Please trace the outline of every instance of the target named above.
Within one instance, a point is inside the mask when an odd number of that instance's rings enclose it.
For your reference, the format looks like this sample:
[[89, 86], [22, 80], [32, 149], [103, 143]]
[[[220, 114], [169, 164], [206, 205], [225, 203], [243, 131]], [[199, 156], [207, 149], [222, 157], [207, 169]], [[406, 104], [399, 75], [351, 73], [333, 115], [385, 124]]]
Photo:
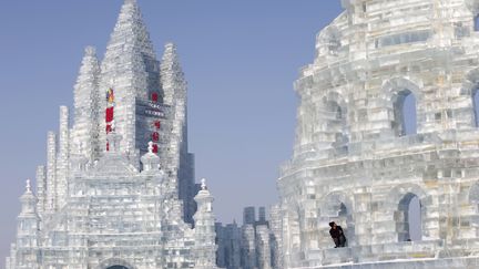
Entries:
[[82, 145], [83, 147], [72, 148], [72, 153], [83, 154], [90, 162], [98, 158], [99, 152], [99, 75], [100, 64], [95, 48], [86, 46], [74, 86], [74, 125], [72, 134], [72, 146]]

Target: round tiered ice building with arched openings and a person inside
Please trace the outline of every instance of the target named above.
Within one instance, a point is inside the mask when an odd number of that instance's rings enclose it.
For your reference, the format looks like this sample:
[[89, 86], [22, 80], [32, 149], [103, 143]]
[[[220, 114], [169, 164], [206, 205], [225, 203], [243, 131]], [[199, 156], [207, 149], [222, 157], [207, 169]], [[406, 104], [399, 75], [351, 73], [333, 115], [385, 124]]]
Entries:
[[295, 83], [277, 182], [284, 267], [479, 268], [479, 1], [342, 4]]

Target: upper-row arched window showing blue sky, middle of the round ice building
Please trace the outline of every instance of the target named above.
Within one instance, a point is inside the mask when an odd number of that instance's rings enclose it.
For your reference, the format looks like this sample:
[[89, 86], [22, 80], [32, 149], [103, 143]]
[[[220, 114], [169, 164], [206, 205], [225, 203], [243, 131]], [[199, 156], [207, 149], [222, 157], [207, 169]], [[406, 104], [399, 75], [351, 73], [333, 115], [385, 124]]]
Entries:
[[416, 96], [405, 89], [393, 97], [395, 121], [393, 127], [398, 136], [417, 133]]

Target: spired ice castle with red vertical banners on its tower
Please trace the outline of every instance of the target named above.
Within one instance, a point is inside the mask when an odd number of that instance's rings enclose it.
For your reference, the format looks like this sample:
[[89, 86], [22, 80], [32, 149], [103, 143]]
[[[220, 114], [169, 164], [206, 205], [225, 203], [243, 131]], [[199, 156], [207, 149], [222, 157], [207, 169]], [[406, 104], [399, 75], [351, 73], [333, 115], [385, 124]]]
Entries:
[[213, 197], [194, 184], [176, 49], [156, 59], [134, 0], [104, 59], [86, 48], [69, 118], [60, 107], [37, 194], [29, 183], [20, 198], [7, 269], [216, 268]]

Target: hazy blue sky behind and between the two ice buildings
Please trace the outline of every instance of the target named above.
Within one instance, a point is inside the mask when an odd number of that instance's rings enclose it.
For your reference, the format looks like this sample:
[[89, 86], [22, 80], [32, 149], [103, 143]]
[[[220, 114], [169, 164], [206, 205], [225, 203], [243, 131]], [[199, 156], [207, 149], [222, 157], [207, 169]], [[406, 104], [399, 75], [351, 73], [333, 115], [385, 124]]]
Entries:
[[[339, 0], [139, 0], [157, 55], [173, 41], [188, 81], [190, 149], [218, 220], [276, 200], [291, 157], [293, 82]], [[0, 8], [0, 268], [16, 234], [24, 180], [45, 162], [59, 105], [72, 106], [85, 45], [103, 58], [122, 0], [2, 1]]]

